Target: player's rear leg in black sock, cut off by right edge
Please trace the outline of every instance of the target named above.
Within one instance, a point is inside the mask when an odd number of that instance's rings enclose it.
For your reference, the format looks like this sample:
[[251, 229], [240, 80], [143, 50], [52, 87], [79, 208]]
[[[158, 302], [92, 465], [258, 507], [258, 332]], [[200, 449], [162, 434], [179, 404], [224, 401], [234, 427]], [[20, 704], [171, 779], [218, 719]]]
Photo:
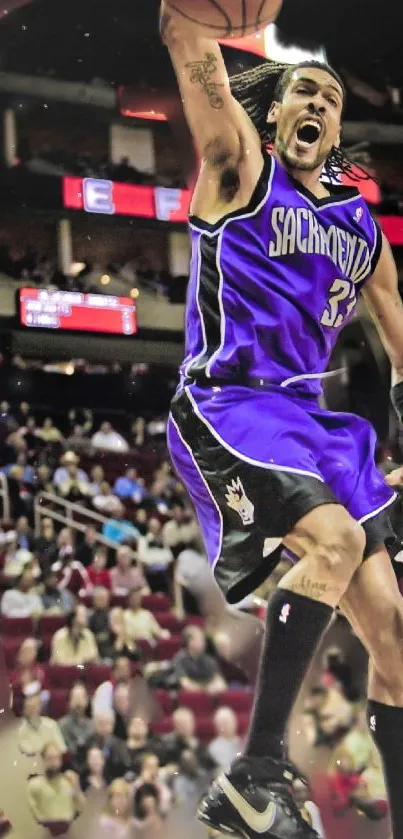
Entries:
[[341, 608], [370, 656], [368, 717], [385, 771], [395, 839], [403, 836], [403, 598], [384, 547], [354, 575]]

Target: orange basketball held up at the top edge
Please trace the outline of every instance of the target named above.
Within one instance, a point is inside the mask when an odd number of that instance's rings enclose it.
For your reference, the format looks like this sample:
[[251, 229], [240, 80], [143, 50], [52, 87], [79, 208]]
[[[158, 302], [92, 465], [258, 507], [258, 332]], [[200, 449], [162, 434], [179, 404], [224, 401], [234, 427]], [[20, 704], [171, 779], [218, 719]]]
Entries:
[[205, 38], [242, 38], [264, 29], [283, 0], [167, 0], [168, 8], [194, 24]]

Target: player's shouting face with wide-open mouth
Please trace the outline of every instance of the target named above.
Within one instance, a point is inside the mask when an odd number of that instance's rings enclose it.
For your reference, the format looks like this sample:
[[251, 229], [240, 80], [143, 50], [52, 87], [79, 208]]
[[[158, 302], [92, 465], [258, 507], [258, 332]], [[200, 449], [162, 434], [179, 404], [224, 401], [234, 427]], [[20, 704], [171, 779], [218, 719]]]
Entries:
[[282, 102], [273, 102], [268, 122], [276, 124], [275, 150], [290, 170], [321, 169], [340, 143], [343, 91], [325, 70], [295, 71]]

